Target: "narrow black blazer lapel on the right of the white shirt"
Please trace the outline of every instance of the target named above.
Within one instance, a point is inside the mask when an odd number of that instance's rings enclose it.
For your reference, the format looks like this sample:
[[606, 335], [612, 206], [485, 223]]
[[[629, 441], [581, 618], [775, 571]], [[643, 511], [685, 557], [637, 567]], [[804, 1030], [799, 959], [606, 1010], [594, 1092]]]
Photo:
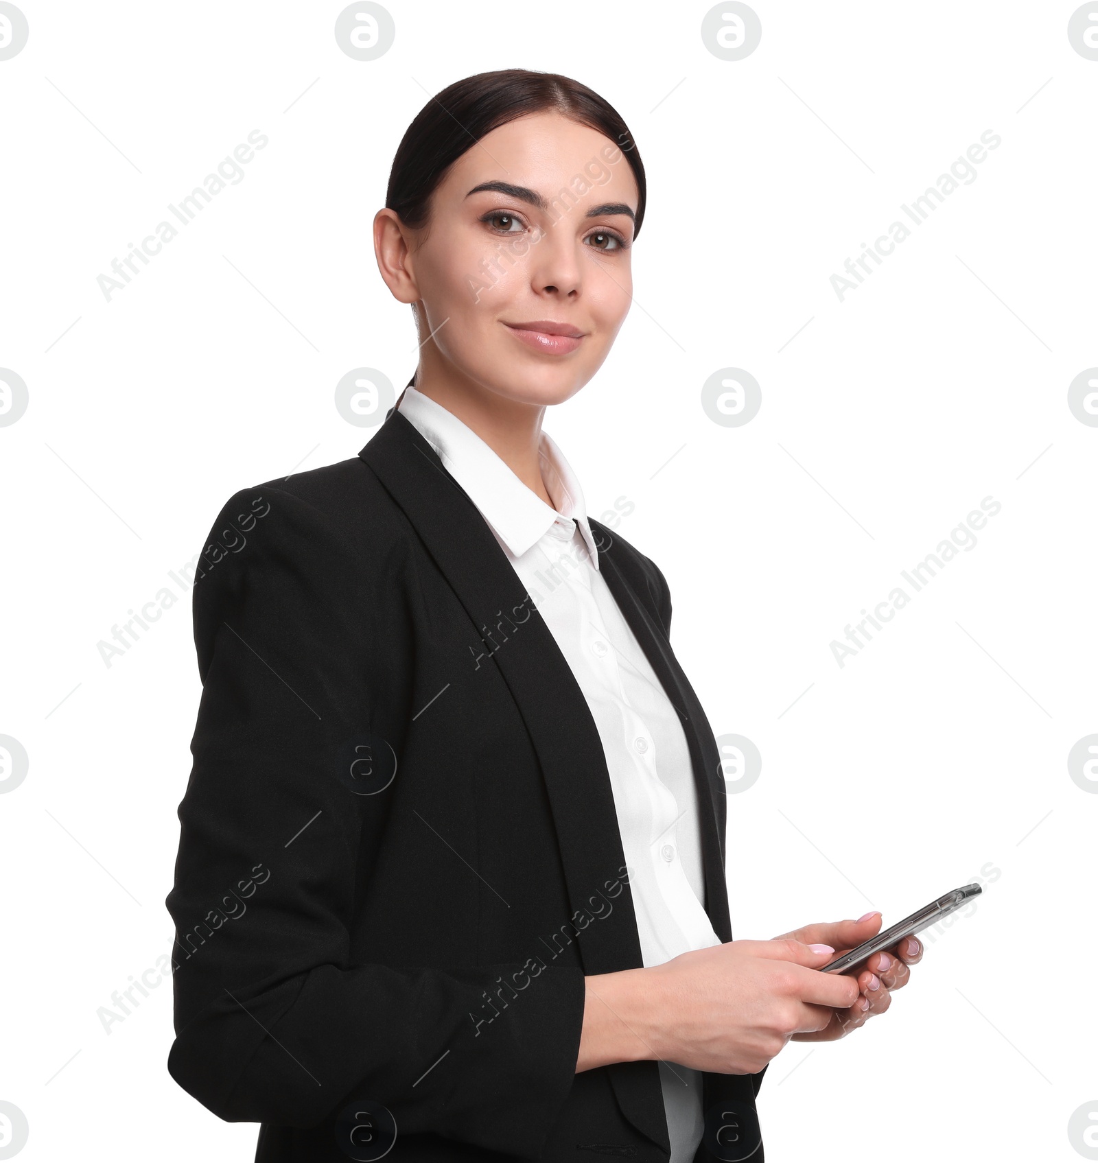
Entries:
[[[656, 677], [683, 720], [694, 786], [698, 790], [698, 829], [701, 837], [701, 866], [705, 878], [705, 911], [713, 925], [713, 932], [721, 941], [730, 941], [728, 885], [725, 879], [725, 789], [713, 733], [701, 704], [671, 652], [663, 632], [626, 580], [614, 555], [613, 535], [605, 526], [598, 526], [594, 521], [591, 526], [598, 527], [596, 544], [600, 547], [599, 569], [609, 592], [614, 595]], [[606, 545], [606, 549], [603, 549], [603, 545]]]

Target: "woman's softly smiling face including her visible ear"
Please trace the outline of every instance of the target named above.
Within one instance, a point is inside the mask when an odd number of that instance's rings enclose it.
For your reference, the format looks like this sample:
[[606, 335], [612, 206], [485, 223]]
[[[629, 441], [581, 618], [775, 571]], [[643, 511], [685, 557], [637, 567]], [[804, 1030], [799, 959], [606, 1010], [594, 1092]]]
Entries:
[[382, 273], [416, 304], [421, 338], [432, 336], [425, 380], [539, 406], [578, 392], [629, 309], [636, 208], [636, 180], [614, 142], [539, 113], [458, 158], [422, 229], [382, 211]]

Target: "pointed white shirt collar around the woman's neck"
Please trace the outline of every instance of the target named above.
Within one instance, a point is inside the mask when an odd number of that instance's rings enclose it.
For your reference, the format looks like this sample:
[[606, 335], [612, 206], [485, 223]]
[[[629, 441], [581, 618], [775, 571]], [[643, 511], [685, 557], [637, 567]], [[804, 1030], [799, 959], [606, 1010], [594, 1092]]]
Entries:
[[583, 490], [564, 454], [547, 433], [541, 434], [539, 463], [555, 508], [523, 485], [471, 428], [430, 397], [408, 386], [399, 411], [439, 454], [445, 470], [465, 490], [512, 555], [521, 557], [556, 522], [575, 521], [591, 563], [598, 569], [598, 550]]

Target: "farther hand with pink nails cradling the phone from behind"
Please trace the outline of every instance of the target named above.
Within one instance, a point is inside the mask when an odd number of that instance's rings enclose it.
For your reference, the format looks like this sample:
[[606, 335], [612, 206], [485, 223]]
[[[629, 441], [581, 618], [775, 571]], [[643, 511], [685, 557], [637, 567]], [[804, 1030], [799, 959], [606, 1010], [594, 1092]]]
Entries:
[[[783, 933], [780, 937], [792, 937], [805, 944], [829, 944], [835, 950], [835, 956], [841, 957], [879, 932], [880, 913], [871, 913], [861, 921], [806, 925], [803, 929]], [[823, 1029], [794, 1034], [792, 1041], [834, 1042], [863, 1026], [875, 1014], [883, 1014], [892, 1004], [892, 991], [903, 989], [911, 978], [907, 966], [922, 959], [922, 948], [918, 937], [904, 937], [896, 948], [875, 952], [857, 973], [857, 983], [862, 990], [857, 1001], [849, 1009], [835, 1009], [830, 1023]]]

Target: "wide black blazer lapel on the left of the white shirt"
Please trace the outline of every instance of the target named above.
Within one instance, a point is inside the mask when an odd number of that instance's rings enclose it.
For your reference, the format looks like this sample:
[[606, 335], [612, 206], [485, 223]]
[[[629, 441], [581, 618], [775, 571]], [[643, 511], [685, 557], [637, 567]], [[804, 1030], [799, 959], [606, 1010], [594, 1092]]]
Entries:
[[[359, 456], [412, 522], [478, 638], [485, 627], [497, 626], [501, 612], [513, 618], [515, 608], [525, 606], [526, 590], [484, 518], [408, 420], [391, 413]], [[500, 644], [492, 662], [541, 764], [573, 915], [590, 912], [590, 905], [601, 900], [599, 891], [612, 885], [625, 865], [598, 728], [536, 609]], [[587, 925], [577, 942], [589, 975], [643, 964], [630, 893], [622, 892], [613, 906], [609, 915]], [[670, 1151], [656, 1063], [615, 1063], [607, 1072], [626, 1118]]]

